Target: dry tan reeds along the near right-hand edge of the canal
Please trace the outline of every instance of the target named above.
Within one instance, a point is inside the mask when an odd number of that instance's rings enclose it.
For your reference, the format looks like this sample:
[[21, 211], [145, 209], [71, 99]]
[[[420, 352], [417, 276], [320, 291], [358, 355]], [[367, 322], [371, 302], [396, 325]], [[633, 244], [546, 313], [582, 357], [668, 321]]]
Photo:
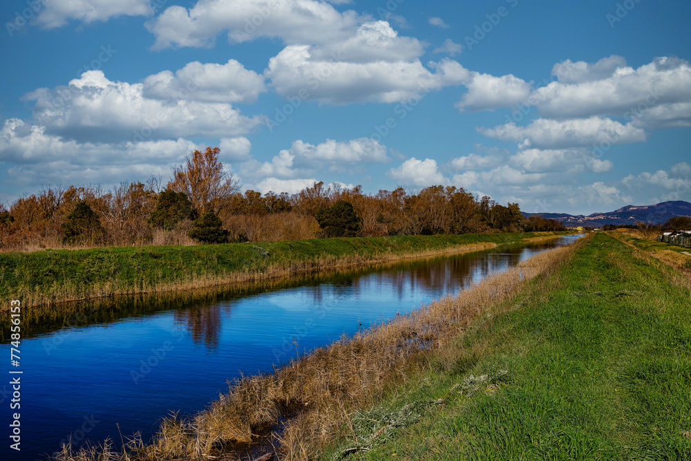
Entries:
[[[446, 344], [479, 317], [497, 314], [502, 302], [515, 296], [529, 279], [554, 270], [576, 245], [543, 252], [457, 296], [342, 337], [275, 373], [242, 377], [207, 410], [188, 420], [165, 420], [151, 444], [122, 453], [118, 459], [223, 457], [238, 444], [256, 440], [258, 429], [276, 425], [280, 419], [285, 425], [274, 436], [280, 441], [282, 458], [317, 458], [324, 444], [348, 427], [350, 412], [372, 406], [411, 373], [423, 370], [433, 353], [437, 361], [451, 367], [453, 352], [447, 352], [446, 358], [440, 352]], [[83, 458], [62, 455], [59, 459]]]

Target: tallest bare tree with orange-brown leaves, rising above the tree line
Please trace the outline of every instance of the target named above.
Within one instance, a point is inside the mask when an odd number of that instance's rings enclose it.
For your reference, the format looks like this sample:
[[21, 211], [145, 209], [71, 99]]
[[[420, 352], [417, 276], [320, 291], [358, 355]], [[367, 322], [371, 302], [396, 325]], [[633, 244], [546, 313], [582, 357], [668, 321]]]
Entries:
[[238, 180], [223, 170], [219, 153], [218, 147], [194, 151], [192, 156], [185, 157], [183, 164], [171, 168], [173, 180], [168, 188], [186, 194], [196, 214], [208, 211], [218, 214], [229, 206], [231, 197], [240, 189]]

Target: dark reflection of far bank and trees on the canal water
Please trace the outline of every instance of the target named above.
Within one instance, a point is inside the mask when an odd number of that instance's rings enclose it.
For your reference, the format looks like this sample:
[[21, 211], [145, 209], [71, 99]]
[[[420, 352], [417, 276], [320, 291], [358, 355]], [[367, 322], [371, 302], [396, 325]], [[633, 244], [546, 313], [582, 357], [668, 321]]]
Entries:
[[[411, 260], [386, 267], [360, 267], [348, 272], [303, 274], [283, 281], [265, 281], [225, 288], [209, 288], [190, 292], [138, 294], [115, 298], [90, 299], [64, 305], [27, 310], [22, 313], [22, 337], [51, 333], [61, 328], [86, 327], [95, 323], [111, 323], [127, 317], [147, 317], [160, 311], [176, 310], [176, 323], [189, 328], [197, 344], [215, 348], [221, 327], [219, 309], [212, 305], [229, 306], [229, 302], [253, 294], [285, 288], [312, 287], [308, 297], [316, 308], [336, 303], [353, 292], [386, 292], [404, 299], [410, 290], [439, 290], [451, 293], [466, 288], [473, 281], [496, 270], [513, 266], [524, 250], [531, 256], [540, 250], [572, 243], [576, 237], [555, 238], [551, 241], [511, 245], [499, 250], [442, 256], [430, 260]], [[309, 300], [305, 300], [306, 302]], [[10, 341], [10, 322], [0, 322], [0, 343]]]

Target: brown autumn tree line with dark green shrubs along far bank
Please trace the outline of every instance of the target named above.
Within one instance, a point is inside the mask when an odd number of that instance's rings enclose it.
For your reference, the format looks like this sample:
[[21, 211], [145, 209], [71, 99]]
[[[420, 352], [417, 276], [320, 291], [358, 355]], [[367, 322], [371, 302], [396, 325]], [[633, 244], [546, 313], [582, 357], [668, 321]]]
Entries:
[[218, 147], [194, 151], [171, 168], [165, 187], [155, 176], [110, 191], [44, 187], [0, 205], [0, 249], [564, 229], [542, 216], [524, 218], [516, 203], [477, 200], [453, 186], [364, 194], [361, 186], [315, 182], [296, 194], [243, 193], [219, 153]]

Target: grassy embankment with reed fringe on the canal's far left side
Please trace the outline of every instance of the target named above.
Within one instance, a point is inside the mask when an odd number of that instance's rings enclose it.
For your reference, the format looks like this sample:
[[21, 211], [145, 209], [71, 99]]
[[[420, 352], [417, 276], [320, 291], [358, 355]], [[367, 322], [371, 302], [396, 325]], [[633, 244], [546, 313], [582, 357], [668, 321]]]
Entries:
[[565, 232], [330, 238], [0, 254], [0, 301], [45, 305], [278, 279], [401, 258], [475, 251]]

